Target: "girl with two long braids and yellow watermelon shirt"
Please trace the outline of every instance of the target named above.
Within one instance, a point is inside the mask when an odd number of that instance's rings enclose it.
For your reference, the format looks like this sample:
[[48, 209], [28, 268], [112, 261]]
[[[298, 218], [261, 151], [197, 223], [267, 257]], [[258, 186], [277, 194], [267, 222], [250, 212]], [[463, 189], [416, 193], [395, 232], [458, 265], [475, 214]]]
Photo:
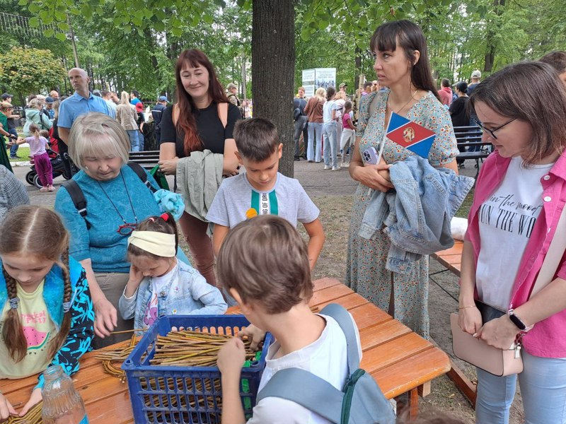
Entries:
[[[69, 234], [57, 213], [40, 206], [11, 209], [0, 228], [0, 379], [61, 365], [79, 370], [91, 347], [94, 312], [86, 274], [69, 257]], [[17, 413], [0, 394], [0, 421], [24, 416], [41, 400], [40, 375]]]

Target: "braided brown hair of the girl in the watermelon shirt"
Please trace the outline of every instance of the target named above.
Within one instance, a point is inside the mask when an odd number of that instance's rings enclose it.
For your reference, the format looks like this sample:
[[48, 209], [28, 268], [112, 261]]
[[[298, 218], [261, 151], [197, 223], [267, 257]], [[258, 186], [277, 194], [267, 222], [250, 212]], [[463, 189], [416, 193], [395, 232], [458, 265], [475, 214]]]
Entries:
[[[69, 276], [69, 233], [59, 215], [50, 209], [22, 205], [13, 208], [4, 220], [0, 232], [0, 254], [29, 255], [54, 261], [62, 271], [64, 290], [62, 304], [71, 301], [72, 288]], [[17, 281], [2, 266], [8, 299], [17, 302]], [[50, 359], [63, 345], [71, 328], [71, 311], [64, 312], [61, 328], [50, 346]], [[10, 308], [2, 329], [4, 343], [11, 358], [20, 362], [28, 352], [20, 314]]]

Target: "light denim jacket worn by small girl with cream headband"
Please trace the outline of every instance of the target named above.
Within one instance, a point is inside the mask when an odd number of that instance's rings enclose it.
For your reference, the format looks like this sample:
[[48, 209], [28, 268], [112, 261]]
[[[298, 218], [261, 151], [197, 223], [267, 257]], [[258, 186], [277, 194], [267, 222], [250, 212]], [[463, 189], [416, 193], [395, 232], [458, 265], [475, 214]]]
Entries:
[[[158, 293], [158, 318], [165, 315], [216, 315], [226, 312], [228, 306], [220, 290], [207, 283], [196, 269], [177, 261], [174, 272], [171, 282]], [[144, 313], [150, 299], [151, 278], [146, 277], [131, 298], [126, 298], [122, 293], [118, 301], [122, 318], [135, 317], [134, 328], [145, 328]]]

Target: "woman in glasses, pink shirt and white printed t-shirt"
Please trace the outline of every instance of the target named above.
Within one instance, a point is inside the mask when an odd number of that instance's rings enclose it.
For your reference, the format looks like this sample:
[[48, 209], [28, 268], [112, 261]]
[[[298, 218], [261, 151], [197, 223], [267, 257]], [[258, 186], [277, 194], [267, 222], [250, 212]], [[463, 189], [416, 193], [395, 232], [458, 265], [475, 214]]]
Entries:
[[[527, 424], [566, 423], [566, 255], [529, 298], [566, 200], [566, 89], [541, 62], [507, 66], [469, 104], [495, 151], [475, 185], [464, 240], [461, 329], [508, 349], [522, 338], [521, 374], [478, 369], [476, 423], [507, 424], [519, 379]], [[502, 317], [482, 322], [475, 300]]]

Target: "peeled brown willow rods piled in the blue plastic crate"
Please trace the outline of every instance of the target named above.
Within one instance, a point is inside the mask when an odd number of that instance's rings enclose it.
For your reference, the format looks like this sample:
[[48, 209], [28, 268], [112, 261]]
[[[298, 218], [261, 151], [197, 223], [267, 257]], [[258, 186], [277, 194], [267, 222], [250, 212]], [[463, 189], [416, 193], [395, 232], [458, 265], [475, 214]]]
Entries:
[[[203, 333], [201, 331], [170, 331], [167, 336], [157, 336], [154, 358], [151, 365], [176, 367], [214, 367], [218, 351], [233, 336], [226, 334]], [[250, 340], [243, 341], [246, 346], [246, 359], [254, 360], [255, 351], [250, 349]]]

